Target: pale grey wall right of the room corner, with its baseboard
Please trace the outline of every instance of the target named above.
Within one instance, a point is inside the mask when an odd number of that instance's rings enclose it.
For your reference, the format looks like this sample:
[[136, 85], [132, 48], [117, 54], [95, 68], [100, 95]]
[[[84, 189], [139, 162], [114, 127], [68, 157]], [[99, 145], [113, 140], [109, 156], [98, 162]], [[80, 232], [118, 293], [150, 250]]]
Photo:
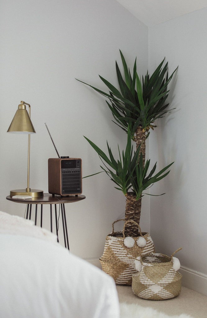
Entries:
[[[169, 176], [154, 185], [150, 199], [150, 231], [158, 252], [177, 248], [186, 286], [206, 294], [206, 117], [207, 9], [149, 29], [149, 69], [166, 57], [169, 73], [179, 65], [170, 91], [175, 110], [158, 121], [151, 134], [150, 157], [158, 166], [175, 161]], [[170, 86], [169, 86], [170, 87]], [[176, 256], [176, 255], [175, 255]]]

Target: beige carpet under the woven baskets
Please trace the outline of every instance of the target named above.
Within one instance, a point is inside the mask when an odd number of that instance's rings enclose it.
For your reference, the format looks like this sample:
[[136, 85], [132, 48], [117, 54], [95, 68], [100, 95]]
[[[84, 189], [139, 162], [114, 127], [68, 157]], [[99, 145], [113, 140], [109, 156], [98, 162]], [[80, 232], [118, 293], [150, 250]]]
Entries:
[[169, 316], [186, 314], [193, 318], [207, 318], [207, 297], [186, 287], [182, 287], [178, 297], [162, 301], [141, 299], [132, 292], [131, 286], [117, 285], [117, 291], [120, 303], [150, 307]]

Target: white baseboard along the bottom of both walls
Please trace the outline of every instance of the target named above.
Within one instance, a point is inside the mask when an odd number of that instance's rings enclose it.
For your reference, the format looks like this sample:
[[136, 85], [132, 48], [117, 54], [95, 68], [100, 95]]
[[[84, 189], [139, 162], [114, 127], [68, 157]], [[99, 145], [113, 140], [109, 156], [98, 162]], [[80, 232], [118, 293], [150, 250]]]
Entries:
[[[101, 268], [99, 259], [88, 258], [85, 260]], [[195, 290], [196, 292], [207, 296], [207, 275], [196, 272], [185, 266], [181, 266], [179, 272], [182, 274], [182, 286]]]

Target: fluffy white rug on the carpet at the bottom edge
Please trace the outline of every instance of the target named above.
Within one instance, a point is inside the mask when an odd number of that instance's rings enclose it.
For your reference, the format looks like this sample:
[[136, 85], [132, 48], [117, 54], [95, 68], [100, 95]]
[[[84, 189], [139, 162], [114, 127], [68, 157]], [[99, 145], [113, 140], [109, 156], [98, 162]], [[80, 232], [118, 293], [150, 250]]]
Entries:
[[121, 318], [192, 318], [189, 315], [167, 315], [158, 312], [155, 309], [149, 307], [141, 307], [137, 304], [120, 304]]

